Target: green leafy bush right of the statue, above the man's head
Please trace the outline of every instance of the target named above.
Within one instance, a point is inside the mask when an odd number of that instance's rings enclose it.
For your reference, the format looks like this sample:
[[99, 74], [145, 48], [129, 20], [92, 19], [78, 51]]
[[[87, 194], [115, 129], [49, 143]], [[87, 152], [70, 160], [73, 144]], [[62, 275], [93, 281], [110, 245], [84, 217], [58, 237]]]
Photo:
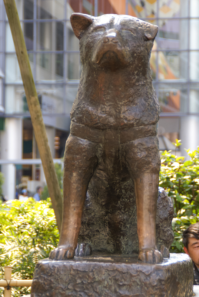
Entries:
[[[176, 139], [176, 146], [180, 140]], [[182, 232], [199, 221], [199, 147], [187, 150], [189, 160], [162, 152], [159, 185], [171, 197], [175, 210], [172, 221], [174, 241], [170, 252], [183, 252]]]

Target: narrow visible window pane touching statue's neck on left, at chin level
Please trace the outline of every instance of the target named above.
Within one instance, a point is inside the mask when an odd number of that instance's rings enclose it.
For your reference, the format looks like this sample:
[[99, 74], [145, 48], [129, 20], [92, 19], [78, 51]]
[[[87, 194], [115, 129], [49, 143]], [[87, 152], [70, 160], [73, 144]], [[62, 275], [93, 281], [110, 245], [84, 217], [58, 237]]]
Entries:
[[69, 53], [67, 55], [68, 61], [68, 79], [80, 79], [81, 63], [79, 53]]

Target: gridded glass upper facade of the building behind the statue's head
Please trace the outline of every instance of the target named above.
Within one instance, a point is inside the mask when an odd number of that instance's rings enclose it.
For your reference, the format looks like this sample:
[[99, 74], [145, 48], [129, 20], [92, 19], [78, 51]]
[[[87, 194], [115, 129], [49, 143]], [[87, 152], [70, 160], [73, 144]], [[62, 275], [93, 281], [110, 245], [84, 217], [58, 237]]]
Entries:
[[[72, 12], [128, 13], [159, 26], [151, 54], [162, 116], [199, 114], [199, 2], [197, 0], [17, 0], [34, 81], [44, 114], [68, 115], [81, 73]], [[97, 7], [95, 7], [97, 6]], [[18, 62], [1, 0], [0, 67], [5, 113], [27, 115]]]

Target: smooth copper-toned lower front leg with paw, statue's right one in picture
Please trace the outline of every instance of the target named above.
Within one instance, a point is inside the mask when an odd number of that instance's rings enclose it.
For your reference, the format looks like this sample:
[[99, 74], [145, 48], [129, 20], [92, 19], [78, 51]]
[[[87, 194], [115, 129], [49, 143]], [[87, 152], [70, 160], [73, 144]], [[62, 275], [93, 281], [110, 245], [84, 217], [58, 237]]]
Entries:
[[134, 180], [139, 238], [138, 259], [161, 263], [162, 254], [156, 246], [156, 206], [159, 174], [144, 173]]

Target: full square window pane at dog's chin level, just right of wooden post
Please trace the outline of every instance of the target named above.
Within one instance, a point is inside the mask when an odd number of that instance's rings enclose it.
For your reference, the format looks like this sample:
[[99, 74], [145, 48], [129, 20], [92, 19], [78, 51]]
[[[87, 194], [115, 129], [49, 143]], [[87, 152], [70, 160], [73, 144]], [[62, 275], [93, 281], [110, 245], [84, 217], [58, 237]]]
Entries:
[[36, 79], [62, 80], [63, 54], [37, 54]]

